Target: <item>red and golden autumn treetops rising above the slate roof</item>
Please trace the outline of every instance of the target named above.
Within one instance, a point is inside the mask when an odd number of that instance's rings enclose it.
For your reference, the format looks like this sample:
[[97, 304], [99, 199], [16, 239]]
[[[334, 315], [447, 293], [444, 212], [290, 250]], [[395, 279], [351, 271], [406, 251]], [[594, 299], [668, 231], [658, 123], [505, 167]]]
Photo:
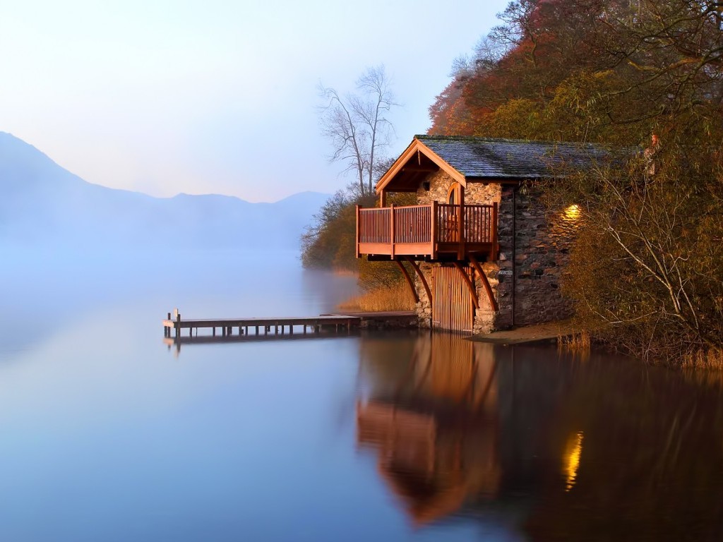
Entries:
[[[720, 105], [721, 14], [711, 1], [513, 1], [485, 38], [498, 52], [476, 51], [455, 75], [430, 107], [430, 133], [515, 137], [522, 121], [517, 137], [639, 143], [666, 118]], [[514, 113], [506, 125], [499, 108]]]

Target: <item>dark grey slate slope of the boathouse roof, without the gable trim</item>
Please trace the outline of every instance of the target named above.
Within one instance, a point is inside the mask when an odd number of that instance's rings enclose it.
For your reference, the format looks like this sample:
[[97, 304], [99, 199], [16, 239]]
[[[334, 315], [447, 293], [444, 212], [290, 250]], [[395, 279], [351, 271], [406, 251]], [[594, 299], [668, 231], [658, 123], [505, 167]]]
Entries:
[[540, 178], [562, 167], [589, 168], [609, 153], [580, 143], [417, 135], [424, 145], [466, 178]]

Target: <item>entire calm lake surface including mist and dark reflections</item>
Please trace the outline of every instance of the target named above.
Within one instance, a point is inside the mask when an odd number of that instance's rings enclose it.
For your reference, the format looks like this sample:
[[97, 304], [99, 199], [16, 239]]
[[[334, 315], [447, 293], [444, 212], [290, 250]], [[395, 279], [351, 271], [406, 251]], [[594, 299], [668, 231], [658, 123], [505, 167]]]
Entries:
[[301, 316], [293, 254], [13, 254], [0, 540], [719, 541], [723, 395], [594, 353], [386, 332], [163, 345], [161, 319]]

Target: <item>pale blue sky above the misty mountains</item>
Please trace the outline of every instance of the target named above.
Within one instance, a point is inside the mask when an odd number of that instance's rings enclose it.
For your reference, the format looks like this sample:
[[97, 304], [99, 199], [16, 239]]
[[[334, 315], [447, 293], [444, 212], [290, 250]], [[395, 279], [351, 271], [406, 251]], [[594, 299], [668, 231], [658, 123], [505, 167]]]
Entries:
[[346, 184], [317, 83], [385, 64], [401, 152], [507, 0], [0, 0], [0, 130], [85, 180], [275, 201]]

